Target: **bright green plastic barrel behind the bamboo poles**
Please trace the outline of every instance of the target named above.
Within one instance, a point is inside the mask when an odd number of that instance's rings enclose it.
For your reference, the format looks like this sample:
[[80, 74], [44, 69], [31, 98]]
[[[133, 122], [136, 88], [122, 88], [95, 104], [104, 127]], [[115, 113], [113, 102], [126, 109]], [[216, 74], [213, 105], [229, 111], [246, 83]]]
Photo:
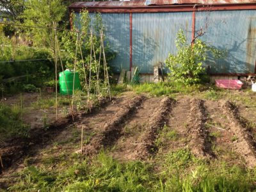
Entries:
[[[66, 77], [67, 86], [66, 86], [66, 83], [65, 83], [64, 74], [65, 74], [65, 77]], [[60, 72], [59, 76], [60, 76], [60, 79], [59, 79], [60, 83], [59, 84], [60, 84], [60, 93], [61, 93], [61, 95], [68, 95], [68, 94], [72, 95], [72, 93], [73, 93], [73, 81], [74, 80], [75, 80], [74, 90], [81, 90], [81, 84], [80, 84], [80, 81], [79, 81], [79, 74], [77, 72], [74, 73], [73, 70], [66, 69], [63, 72]], [[74, 79], [74, 76], [75, 76], [75, 79]]]

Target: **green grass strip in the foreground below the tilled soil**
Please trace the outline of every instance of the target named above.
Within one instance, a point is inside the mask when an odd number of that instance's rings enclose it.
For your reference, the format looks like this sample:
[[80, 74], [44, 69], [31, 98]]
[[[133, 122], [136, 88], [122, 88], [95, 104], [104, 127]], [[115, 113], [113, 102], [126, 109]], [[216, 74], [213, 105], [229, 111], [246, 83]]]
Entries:
[[[60, 159], [58, 159], [60, 160]], [[52, 160], [53, 161], [53, 160]], [[255, 170], [197, 159], [188, 149], [158, 161], [118, 162], [101, 152], [92, 160], [72, 154], [65, 169], [28, 166], [10, 191], [253, 191]], [[69, 161], [69, 163], [67, 162]], [[61, 164], [61, 162], [58, 162]], [[216, 168], [218, 167], [218, 168]]]

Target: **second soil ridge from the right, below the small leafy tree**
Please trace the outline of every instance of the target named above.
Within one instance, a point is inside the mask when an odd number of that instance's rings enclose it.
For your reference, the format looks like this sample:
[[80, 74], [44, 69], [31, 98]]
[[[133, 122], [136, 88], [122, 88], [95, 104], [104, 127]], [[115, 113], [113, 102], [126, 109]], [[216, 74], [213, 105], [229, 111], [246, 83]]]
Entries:
[[190, 101], [189, 132], [191, 141], [189, 142], [191, 151], [199, 157], [214, 157], [212, 143], [209, 140], [209, 130], [205, 127], [207, 112], [204, 100], [192, 99]]

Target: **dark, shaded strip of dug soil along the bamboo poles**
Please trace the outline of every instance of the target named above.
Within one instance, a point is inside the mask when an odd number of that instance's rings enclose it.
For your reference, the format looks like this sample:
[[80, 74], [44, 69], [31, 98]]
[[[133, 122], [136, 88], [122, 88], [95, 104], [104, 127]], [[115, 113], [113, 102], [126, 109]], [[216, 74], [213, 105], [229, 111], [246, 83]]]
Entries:
[[[108, 99], [102, 99], [99, 101], [100, 106], [104, 106], [108, 102]], [[1, 143], [0, 155], [1, 163], [0, 174], [4, 169], [12, 166], [13, 163], [19, 161], [24, 156], [28, 155], [31, 151], [35, 152], [35, 148], [44, 147], [49, 141], [53, 140], [58, 134], [63, 131], [68, 125], [72, 124], [79, 118], [83, 118], [88, 113], [95, 113], [97, 107], [92, 108], [91, 111], [82, 111], [81, 113], [74, 113], [65, 117], [55, 120], [47, 130], [38, 127], [37, 129], [31, 129], [29, 132], [29, 138], [13, 138], [12, 140]], [[74, 120], [74, 121], [73, 121]]]

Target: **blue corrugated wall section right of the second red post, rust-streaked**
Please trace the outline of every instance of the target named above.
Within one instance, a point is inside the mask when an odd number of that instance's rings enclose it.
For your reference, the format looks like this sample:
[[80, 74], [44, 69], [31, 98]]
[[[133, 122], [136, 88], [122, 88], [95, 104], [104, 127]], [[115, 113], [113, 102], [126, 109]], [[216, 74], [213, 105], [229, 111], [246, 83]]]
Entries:
[[202, 40], [227, 51], [225, 59], [210, 57], [212, 74], [252, 74], [256, 60], [256, 11], [196, 12], [195, 29], [207, 30]]

